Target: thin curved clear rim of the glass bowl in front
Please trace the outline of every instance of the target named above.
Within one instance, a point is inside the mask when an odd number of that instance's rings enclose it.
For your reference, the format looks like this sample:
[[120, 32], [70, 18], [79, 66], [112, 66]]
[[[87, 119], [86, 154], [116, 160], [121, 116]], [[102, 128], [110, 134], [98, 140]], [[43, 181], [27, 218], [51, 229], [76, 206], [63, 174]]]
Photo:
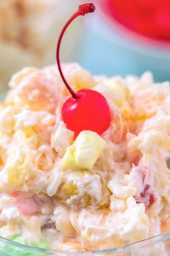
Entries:
[[18, 247], [19, 249], [28, 249], [30, 252], [43, 252], [48, 253], [50, 255], [105, 255], [112, 252], [123, 252], [126, 249], [140, 249], [142, 247], [148, 247], [151, 244], [157, 244], [158, 242], [165, 242], [170, 239], [170, 230], [163, 232], [161, 234], [157, 234], [156, 236], [151, 236], [147, 239], [140, 240], [138, 242], [133, 242], [130, 244], [126, 244], [122, 247], [115, 247], [111, 249], [99, 249], [99, 250], [91, 250], [91, 251], [76, 251], [76, 250], [58, 250], [58, 249], [43, 249], [40, 247], [34, 247], [27, 244], [20, 244], [18, 242], [14, 242], [12, 240], [6, 239], [0, 236], [0, 243], [4, 242], [4, 244], [9, 244], [14, 247]]

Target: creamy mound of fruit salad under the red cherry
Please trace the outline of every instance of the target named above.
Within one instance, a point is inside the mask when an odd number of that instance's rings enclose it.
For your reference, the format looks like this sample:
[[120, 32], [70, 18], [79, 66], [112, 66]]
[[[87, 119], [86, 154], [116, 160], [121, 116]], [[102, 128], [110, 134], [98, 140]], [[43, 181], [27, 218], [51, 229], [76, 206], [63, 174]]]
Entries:
[[55, 65], [14, 74], [0, 106], [0, 236], [84, 251], [168, 230], [169, 82], [62, 68], [75, 91], [104, 95], [110, 125], [102, 135], [67, 128], [69, 94]]

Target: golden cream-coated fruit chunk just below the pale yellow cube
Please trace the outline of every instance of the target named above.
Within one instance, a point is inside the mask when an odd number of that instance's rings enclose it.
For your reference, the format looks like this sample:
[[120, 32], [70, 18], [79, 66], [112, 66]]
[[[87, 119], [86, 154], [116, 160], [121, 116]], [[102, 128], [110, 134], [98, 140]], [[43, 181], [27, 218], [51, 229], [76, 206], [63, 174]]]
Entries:
[[[94, 186], [95, 184], [95, 186]], [[109, 189], [98, 174], [89, 171], [68, 171], [56, 198], [70, 208], [106, 208], [109, 204]]]

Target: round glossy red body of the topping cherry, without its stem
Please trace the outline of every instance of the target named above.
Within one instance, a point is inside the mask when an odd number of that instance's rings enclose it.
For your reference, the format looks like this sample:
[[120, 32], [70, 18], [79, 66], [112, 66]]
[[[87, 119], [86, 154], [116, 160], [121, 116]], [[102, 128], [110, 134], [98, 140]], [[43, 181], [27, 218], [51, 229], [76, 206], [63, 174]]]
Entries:
[[94, 90], [80, 90], [79, 99], [68, 98], [63, 104], [63, 121], [75, 136], [83, 130], [91, 130], [99, 135], [109, 127], [110, 111], [105, 98]]

